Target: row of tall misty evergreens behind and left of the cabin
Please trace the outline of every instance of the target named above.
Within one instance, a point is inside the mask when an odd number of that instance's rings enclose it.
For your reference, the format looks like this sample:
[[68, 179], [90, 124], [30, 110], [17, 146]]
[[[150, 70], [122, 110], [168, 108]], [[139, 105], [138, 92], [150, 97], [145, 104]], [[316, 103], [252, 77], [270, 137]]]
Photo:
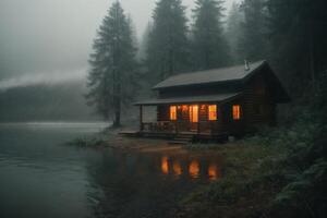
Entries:
[[[89, 58], [88, 104], [120, 125], [137, 90], [177, 73], [269, 60], [295, 97], [315, 92], [327, 69], [325, 0], [158, 0], [137, 52], [132, 20], [112, 3]], [[142, 87], [141, 87], [142, 86]], [[303, 88], [305, 87], [305, 88]]]

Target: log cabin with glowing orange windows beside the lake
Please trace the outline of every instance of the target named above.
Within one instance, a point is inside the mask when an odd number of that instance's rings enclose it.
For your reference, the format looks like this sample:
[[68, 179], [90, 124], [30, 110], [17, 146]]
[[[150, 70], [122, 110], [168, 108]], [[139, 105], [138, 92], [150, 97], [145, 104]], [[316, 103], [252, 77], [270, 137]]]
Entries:
[[[157, 98], [138, 101], [141, 135], [243, 135], [276, 124], [277, 104], [290, 97], [266, 61], [173, 75], [153, 87]], [[144, 108], [156, 108], [145, 122]]]

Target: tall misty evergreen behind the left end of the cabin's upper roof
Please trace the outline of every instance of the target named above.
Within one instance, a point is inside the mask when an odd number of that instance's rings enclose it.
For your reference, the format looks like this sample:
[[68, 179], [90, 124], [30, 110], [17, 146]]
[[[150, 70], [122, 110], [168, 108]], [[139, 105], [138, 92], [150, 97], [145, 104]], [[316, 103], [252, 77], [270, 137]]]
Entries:
[[154, 82], [187, 66], [185, 8], [181, 0], [159, 0], [147, 46], [147, 65]]

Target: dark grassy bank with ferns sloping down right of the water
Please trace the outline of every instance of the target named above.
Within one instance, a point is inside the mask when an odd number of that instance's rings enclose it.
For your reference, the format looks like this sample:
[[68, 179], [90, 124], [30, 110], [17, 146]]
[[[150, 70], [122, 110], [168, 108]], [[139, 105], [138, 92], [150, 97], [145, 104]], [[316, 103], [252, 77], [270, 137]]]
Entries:
[[205, 146], [221, 153], [222, 178], [184, 197], [175, 217], [325, 217], [326, 132], [315, 117], [303, 112], [291, 126]]

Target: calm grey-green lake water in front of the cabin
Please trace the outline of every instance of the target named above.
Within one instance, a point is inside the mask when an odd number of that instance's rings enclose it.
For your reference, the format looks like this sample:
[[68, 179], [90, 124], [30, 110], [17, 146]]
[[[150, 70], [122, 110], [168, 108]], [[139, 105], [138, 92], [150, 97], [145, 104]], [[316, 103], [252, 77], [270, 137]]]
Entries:
[[104, 123], [0, 124], [0, 217], [169, 217], [220, 177], [219, 158], [65, 146]]

